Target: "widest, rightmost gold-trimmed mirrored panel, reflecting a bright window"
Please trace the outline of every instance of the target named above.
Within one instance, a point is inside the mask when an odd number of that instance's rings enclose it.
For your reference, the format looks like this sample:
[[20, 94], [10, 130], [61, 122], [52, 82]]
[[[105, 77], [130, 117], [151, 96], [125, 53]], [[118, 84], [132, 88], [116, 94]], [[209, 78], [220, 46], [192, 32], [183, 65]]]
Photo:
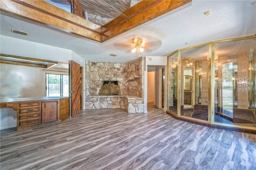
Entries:
[[255, 38], [215, 44], [215, 122], [256, 127], [255, 47]]

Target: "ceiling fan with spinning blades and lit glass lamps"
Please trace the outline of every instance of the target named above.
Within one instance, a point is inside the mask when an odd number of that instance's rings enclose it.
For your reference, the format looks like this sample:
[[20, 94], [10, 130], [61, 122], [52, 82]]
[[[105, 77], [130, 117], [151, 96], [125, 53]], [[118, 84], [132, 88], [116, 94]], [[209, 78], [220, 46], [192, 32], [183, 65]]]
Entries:
[[[126, 41], [126, 42], [128, 42], [128, 41]], [[133, 38], [132, 43], [130, 43], [130, 44], [128, 44], [128, 43], [114, 44], [114, 46], [122, 47], [122, 49], [129, 48], [126, 51], [126, 53], [130, 53], [130, 52], [136, 53], [137, 57], [140, 57], [140, 53], [142, 53], [142, 52], [151, 52], [152, 50], [150, 50], [150, 48], [160, 46], [160, 45], [162, 45], [162, 41], [160, 41], [160, 40], [145, 43], [145, 41], [143, 41], [143, 39], [140, 38], [140, 37]]]

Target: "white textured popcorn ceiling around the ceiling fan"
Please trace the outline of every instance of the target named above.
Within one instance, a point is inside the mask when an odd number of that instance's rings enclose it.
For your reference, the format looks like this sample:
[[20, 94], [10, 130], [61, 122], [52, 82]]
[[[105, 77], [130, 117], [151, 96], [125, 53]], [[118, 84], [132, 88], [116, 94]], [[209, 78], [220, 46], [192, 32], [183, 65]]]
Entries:
[[[130, 51], [132, 38], [137, 36], [148, 43], [141, 56], [167, 56], [177, 49], [209, 41], [254, 35], [255, 9], [255, 0], [193, 0], [104, 43], [1, 12], [0, 34], [70, 49], [89, 61], [125, 63], [137, 58]], [[208, 10], [211, 14], [206, 16]], [[11, 29], [29, 35], [12, 33]]]

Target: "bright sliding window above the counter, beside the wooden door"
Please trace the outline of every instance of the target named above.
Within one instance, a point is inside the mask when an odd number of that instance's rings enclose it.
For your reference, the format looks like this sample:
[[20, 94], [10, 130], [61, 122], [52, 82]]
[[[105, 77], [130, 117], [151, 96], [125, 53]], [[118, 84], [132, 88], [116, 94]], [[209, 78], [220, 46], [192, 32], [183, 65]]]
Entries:
[[69, 76], [46, 73], [46, 96], [69, 96]]

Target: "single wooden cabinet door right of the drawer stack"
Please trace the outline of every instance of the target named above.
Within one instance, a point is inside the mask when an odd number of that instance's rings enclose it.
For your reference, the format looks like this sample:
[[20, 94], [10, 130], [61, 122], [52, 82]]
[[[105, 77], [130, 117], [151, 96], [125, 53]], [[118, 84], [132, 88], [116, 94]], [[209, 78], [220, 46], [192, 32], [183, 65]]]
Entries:
[[42, 102], [42, 123], [58, 120], [58, 101]]

